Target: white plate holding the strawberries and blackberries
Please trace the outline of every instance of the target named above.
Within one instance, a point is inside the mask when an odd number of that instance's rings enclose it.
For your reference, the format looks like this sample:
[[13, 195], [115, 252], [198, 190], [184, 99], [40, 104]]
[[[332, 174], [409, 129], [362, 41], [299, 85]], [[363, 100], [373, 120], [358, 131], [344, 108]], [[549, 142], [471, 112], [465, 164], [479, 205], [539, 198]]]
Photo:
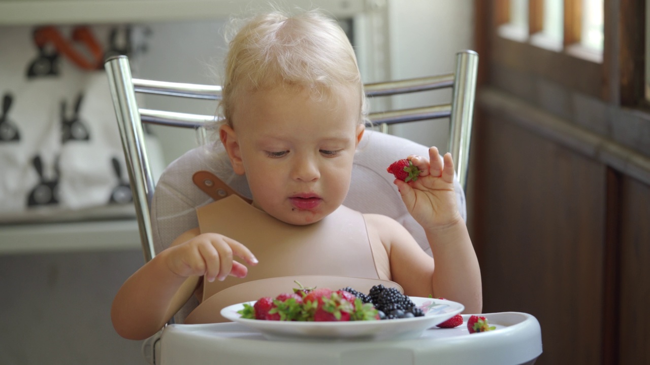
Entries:
[[[239, 322], [263, 334], [269, 340], [318, 340], [328, 339], [398, 339], [416, 338], [424, 330], [434, 327], [465, 309], [462, 304], [445, 299], [410, 297], [424, 316], [396, 320], [348, 321], [348, 322], [303, 322], [265, 321], [240, 318], [238, 310], [244, 303], [231, 305], [221, 310], [228, 320]], [[247, 302], [254, 305], [255, 302]]]

